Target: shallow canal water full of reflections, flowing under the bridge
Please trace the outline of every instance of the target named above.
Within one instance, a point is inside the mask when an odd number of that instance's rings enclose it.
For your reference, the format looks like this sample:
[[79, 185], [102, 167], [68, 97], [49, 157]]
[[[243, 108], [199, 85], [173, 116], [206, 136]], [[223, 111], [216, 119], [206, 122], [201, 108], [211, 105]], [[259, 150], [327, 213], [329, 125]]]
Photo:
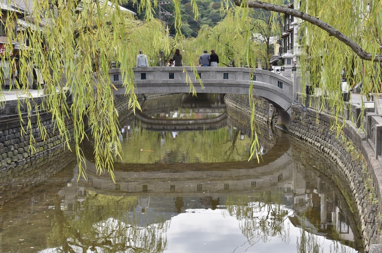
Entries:
[[66, 150], [8, 172], [0, 253], [363, 252], [344, 188], [324, 174], [335, 164], [314, 148], [259, 124], [248, 161], [250, 130], [216, 94], [142, 109], [121, 115], [116, 183], [97, 174], [91, 140], [86, 179]]

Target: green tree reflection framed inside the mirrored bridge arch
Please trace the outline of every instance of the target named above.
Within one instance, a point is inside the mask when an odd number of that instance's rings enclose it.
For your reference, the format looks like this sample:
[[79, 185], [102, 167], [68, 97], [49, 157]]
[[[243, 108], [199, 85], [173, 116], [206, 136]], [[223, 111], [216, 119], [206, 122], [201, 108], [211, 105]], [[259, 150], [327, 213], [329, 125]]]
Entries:
[[142, 129], [139, 122], [130, 127], [129, 138], [121, 142], [124, 153], [118, 162], [203, 163], [246, 161], [249, 158], [250, 139], [237, 141], [240, 133], [236, 131], [232, 143], [231, 133], [226, 127], [210, 131], [179, 131], [176, 138], [173, 138], [172, 131]]

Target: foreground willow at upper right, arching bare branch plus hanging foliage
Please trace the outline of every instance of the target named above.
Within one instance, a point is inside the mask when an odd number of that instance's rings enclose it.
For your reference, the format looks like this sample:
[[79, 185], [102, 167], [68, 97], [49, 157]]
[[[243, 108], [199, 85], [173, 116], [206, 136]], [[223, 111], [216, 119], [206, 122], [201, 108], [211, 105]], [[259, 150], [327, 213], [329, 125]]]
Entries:
[[235, 0], [235, 4], [285, 13], [302, 20], [299, 65], [301, 70], [310, 70], [309, 73], [301, 71], [302, 83], [306, 84], [309, 76], [311, 84], [329, 94], [329, 105], [335, 109], [332, 113], [337, 125], [344, 110], [343, 70], [349, 84], [362, 84], [362, 94], [381, 91], [381, 0], [296, 1], [299, 9], [273, 4], [272, 0]]

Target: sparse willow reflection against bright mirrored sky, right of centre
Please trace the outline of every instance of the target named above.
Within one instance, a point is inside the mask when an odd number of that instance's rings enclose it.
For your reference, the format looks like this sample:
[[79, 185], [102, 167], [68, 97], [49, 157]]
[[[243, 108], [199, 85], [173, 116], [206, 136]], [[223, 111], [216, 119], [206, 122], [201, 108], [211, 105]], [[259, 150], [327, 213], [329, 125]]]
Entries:
[[252, 246], [258, 241], [266, 242], [268, 237], [279, 237], [289, 243], [289, 210], [281, 202], [281, 193], [262, 192], [256, 196], [240, 196], [226, 201], [227, 212], [240, 221], [240, 229]]

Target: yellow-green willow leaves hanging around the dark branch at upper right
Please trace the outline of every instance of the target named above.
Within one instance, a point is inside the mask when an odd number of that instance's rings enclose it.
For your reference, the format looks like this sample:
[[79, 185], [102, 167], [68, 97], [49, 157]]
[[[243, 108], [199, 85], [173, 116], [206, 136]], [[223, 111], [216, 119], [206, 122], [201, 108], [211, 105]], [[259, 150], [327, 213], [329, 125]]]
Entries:
[[[300, 9], [308, 10], [308, 14], [338, 29], [367, 52], [381, 54], [382, 28], [377, 23], [382, 15], [379, 11], [373, 11], [377, 8], [376, 4], [365, 4], [362, 0], [303, 1]], [[344, 110], [340, 97], [343, 68], [351, 86], [363, 82], [362, 93], [380, 92], [381, 64], [362, 60], [343, 42], [308, 22], [302, 23], [299, 33], [303, 35], [301, 45], [308, 45], [303, 47], [301, 69], [306, 69], [309, 64], [310, 84], [323, 88], [327, 94], [336, 94], [329, 98], [330, 107], [337, 106], [337, 110], [332, 112], [336, 118], [339, 118]], [[308, 79], [305, 74], [303, 72], [303, 79], [306, 81]]]

